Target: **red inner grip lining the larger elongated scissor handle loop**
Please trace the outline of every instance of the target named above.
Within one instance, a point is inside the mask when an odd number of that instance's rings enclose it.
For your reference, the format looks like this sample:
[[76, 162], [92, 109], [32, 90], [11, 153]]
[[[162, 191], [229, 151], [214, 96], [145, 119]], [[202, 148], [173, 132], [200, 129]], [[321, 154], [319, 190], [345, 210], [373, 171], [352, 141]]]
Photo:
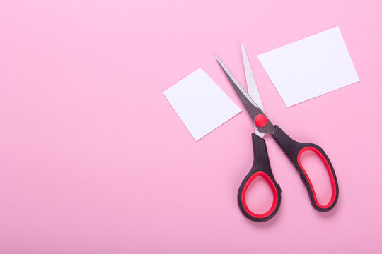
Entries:
[[[316, 196], [316, 192], [314, 191], [311, 179], [309, 179], [308, 174], [306, 174], [305, 169], [301, 165], [300, 157], [303, 154], [303, 152], [306, 152], [306, 151], [315, 152], [316, 155], [318, 155], [318, 157], [320, 157], [320, 159], [324, 162], [326, 170], [328, 171], [329, 178], [330, 178], [330, 185], [332, 186], [332, 197], [330, 198], [330, 201], [328, 202], [327, 205], [320, 205], [320, 203], [318, 202], [317, 196]], [[335, 178], [333, 176], [332, 169], [330, 168], [329, 162], [325, 159], [323, 154], [320, 151], [318, 151], [315, 147], [303, 147], [303, 149], [301, 149], [299, 151], [299, 154], [297, 155], [297, 162], [299, 163], [299, 166], [302, 169], [303, 174], [306, 176], [306, 179], [308, 179], [308, 183], [309, 183], [309, 186], [311, 186], [311, 190], [312, 190], [312, 193], [313, 193], [313, 198], [314, 198], [314, 201], [316, 202], [316, 205], [318, 205], [318, 207], [320, 207], [322, 209], [327, 209], [328, 207], [330, 207], [333, 204], [333, 202], [335, 202], [335, 198], [336, 198], [336, 195], [337, 195], [337, 189], [335, 187]]]

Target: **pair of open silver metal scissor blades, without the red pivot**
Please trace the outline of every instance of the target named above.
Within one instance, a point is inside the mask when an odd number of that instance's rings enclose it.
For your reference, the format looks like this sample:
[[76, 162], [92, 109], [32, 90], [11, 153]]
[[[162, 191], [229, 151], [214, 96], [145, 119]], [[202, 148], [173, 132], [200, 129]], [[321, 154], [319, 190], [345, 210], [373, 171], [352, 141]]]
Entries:
[[[238, 80], [236, 80], [236, 78], [232, 75], [231, 71], [228, 70], [226, 65], [219, 59], [218, 56], [216, 56], [216, 60], [219, 62], [221, 68], [223, 68], [224, 73], [226, 73], [229, 82], [238, 94], [238, 97], [241, 99], [241, 102], [243, 102], [245, 109], [250, 114], [250, 117], [253, 119], [253, 121], [255, 121], [256, 116], [267, 116], [264, 113], [265, 110], [264, 106], [262, 105], [260, 93], [259, 90], [257, 90], [255, 77], [253, 76], [252, 68], [250, 68], [248, 56], [245, 52], [245, 48], [243, 45], [241, 45], [241, 55], [243, 57], [245, 79], [247, 80], [249, 95], [245, 91], [245, 89], [240, 85], [240, 83], [238, 83]], [[273, 131], [274, 126], [272, 125], [269, 119], [267, 119], [267, 124], [265, 126], [259, 127], [255, 125], [255, 133], [260, 138], [264, 137], [265, 133], [273, 133]]]

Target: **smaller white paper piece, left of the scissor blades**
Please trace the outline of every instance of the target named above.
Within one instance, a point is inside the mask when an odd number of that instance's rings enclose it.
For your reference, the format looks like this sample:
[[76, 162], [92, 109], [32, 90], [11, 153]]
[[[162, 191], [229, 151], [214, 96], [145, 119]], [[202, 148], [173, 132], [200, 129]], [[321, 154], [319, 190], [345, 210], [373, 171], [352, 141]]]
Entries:
[[163, 94], [196, 141], [241, 112], [201, 68]]

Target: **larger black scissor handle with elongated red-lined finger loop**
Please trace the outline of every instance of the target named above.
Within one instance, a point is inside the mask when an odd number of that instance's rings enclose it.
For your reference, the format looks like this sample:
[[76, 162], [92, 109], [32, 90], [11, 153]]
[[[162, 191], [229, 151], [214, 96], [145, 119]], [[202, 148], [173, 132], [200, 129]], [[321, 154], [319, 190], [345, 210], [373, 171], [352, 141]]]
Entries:
[[[291, 139], [289, 135], [284, 133], [279, 126], [274, 126], [274, 139], [277, 140], [279, 146], [282, 147], [285, 154], [289, 157], [291, 162], [294, 164], [294, 167], [299, 171], [301, 180], [306, 186], [306, 189], [309, 193], [309, 198], [311, 199], [311, 203], [313, 207], [320, 212], [328, 212], [332, 210], [338, 200], [338, 183], [337, 177], [335, 176], [335, 171], [333, 169], [332, 163], [328, 158], [328, 155], [324, 152], [324, 150], [318, 145], [312, 143], [299, 143], [295, 140]], [[308, 174], [306, 174], [305, 169], [301, 166], [300, 156], [303, 152], [312, 151], [315, 152], [318, 157], [324, 162], [325, 167], [328, 171], [330, 178], [330, 185], [332, 186], [332, 197], [327, 205], [321, 205], [318, 203], [316, 192], [314, 191], [313, 185], [311, 183], [311, 179], [309, 179]]]

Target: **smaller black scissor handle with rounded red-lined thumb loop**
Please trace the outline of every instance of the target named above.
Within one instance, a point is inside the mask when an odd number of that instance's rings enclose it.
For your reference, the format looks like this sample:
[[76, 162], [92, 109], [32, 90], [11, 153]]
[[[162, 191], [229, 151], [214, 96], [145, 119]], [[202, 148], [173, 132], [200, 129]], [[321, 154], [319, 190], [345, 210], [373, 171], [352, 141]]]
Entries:
[[[253, 153], [254, 153], [254, 162], [252, 169], [245, 176], [245, 179], [241, 183], [241, 186], [238, 190], [238, 205], [240, 207], [241, 212], [250, 220], [255, 222], [265, 222], [268, 219], [272, 219], [274, 215], [277, 213], [280, 207], [281, 202], [281, 188], [274, 180], [274, 176], [272, 174], [272, 170], [270, 168], [270, 161], [268, 159], [267, 146], [265, 145], [265, 140], [252, 134], [253, 141]], [[263, 214], [256, 214], [252, 212], [248, 205], [245, 202], [245, 193], [247, 192], [248, 186], [256, 177], [262, 177], [267, 181], [268, 185], [272, 189], [273, 194], [273, 202], [270, 210]]]

